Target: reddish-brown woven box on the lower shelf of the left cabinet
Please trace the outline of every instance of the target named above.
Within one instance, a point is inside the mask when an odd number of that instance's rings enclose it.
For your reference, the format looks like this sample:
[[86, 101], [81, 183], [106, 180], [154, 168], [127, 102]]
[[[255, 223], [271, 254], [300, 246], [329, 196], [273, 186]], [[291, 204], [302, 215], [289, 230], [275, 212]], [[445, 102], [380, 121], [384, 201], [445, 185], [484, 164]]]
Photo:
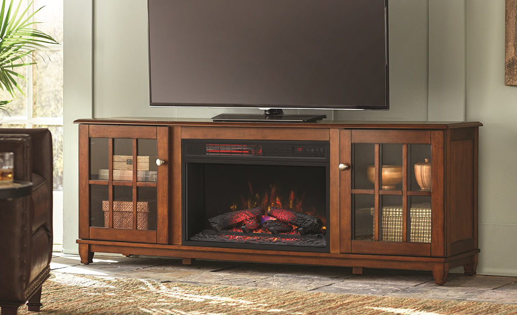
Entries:
[[[104, 227], [110, 225], [110, 203], [102, 201]], [[136, 202], [136, 229], [147, 230], [149, 208], [147, 202]], [[133, 229], [133, 202], [113, 201], [113, 227], [115, 229]]]

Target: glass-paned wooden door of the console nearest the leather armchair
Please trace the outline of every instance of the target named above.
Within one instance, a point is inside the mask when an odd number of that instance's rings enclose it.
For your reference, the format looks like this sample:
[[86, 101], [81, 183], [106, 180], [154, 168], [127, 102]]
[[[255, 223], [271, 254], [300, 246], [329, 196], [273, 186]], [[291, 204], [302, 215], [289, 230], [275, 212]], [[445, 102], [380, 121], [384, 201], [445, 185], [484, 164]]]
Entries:
[[142, 138], [136, 127], [118, 128], [127, 132], [88, 137], [89, 238], [156, 243], [159, 209], [166, 212], [166, 204], [158, 204], [159, 190], [167, 182], [159, 169], [165, 166], [157, 165], [157, 128]]

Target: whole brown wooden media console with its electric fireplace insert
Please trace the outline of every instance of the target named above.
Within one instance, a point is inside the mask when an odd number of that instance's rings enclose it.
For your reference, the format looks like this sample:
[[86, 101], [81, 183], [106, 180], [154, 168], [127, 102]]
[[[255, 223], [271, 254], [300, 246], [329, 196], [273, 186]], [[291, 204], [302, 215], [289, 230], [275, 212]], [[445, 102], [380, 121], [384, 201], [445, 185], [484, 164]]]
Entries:
[[75, 122], [82, 263], [423, 270], [439, 285], [476, 273], [479, 122]]

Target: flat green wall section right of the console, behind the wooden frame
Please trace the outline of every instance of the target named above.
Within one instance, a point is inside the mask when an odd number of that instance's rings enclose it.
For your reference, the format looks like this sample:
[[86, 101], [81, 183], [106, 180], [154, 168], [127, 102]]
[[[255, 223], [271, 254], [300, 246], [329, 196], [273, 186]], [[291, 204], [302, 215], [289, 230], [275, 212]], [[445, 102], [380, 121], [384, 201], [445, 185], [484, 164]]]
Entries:
[[505, 0], [467, 0], [466, 120], [479, 120], [480, 272], [517, 275], [517, 86], [505, 86]]

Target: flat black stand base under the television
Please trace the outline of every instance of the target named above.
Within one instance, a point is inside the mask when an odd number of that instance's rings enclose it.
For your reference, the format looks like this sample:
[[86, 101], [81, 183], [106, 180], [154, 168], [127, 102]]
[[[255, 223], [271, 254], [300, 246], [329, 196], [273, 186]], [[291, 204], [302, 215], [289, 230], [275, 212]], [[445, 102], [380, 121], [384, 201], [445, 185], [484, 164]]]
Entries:
[[244, 122], [313, 122], [327, 118], [327, 115], [286, 115], [282, 109], [266, 109], [264, 114], [220, 114], [212, 117], [212, 121], [244, 121]]

